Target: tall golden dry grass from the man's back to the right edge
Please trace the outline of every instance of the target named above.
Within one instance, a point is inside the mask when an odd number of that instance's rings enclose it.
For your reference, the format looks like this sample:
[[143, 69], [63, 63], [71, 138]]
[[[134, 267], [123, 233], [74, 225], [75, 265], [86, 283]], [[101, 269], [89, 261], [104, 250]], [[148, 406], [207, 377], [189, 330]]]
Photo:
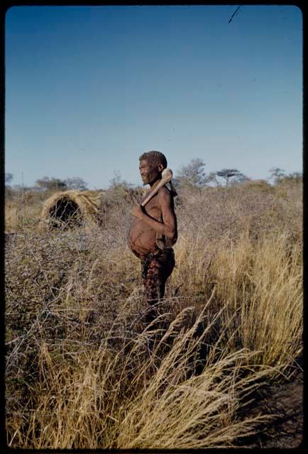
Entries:
[[215, 287], [214, 306], [225, 307], [221, 326], [233, 319], [226, 330], [233, 349], [256, 350], [255, 365], [282, 372], [302, 350], [302, 248], [290, 245], [284, 232], [257, 243], [244, 232], [236, 242], [211, 243], [203, 256], [201, 244], [198, 236], [179, 242], [173, 282], [187, 299], [199, 295], [198, 306]]

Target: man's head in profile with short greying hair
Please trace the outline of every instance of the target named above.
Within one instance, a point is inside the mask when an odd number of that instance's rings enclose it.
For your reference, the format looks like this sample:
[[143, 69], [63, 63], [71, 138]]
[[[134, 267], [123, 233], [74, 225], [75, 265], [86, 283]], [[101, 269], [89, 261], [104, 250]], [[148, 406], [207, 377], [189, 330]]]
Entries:
[[139, 170], [143, 184], [153, 184], [161, 178], [167, 159], [160, 151], [148, 151], [139, 157]]

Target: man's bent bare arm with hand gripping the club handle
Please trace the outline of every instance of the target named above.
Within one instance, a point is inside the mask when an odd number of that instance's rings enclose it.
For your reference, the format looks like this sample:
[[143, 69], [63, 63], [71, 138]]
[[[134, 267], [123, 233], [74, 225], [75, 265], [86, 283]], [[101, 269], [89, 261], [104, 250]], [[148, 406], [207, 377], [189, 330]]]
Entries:
[[141, 221], [153, 228], [153, 230], [160, 235], [173, 239], [177, 235], [177, 219], [175, 217], [171, 194], [166, 187], [162, 187], [159, 190], [158, 201], [162, 211], [163, 223], [148, 216], [141, 205], [135, 206], [132, 209], [131, 214], [136, 216], [136, 218], [141, 219]]

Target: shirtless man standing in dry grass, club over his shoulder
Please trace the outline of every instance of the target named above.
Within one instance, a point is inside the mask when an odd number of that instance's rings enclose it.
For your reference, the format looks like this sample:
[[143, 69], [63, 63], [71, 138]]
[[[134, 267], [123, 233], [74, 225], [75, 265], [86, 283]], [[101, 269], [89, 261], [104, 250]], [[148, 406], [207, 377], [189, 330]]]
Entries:
[[[143, 184], [150, 184], [149, 192], [152, 192], [167, 167], [165, 155], [159, 151], [149, 151], [143, 153], [139, 161]], [[128, 233], [128, 244], [133, 253], [141, 259], [143, 286], [149, 304], [145, 316], [146, 323], [150, 323], [159, 315], [158, 302], [165, 294], [167, 278], [175, 267], [172, 250], [172, 245], [177, 240], [177, 218], [173, 201], [175, 195], [172, 189], [164, 185], [145, 207], [138, 205], [131, 211], [133, 218]]]

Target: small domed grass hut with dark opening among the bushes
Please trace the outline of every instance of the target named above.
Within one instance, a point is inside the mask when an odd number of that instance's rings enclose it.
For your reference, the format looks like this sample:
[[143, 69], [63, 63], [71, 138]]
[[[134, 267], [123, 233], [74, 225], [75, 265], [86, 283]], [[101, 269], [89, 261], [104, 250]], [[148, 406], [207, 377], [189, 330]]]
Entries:
[[97, 225], [101, 211], [102, 191], [56, 192], [43, 204], [41, 226], [72, 228]]

